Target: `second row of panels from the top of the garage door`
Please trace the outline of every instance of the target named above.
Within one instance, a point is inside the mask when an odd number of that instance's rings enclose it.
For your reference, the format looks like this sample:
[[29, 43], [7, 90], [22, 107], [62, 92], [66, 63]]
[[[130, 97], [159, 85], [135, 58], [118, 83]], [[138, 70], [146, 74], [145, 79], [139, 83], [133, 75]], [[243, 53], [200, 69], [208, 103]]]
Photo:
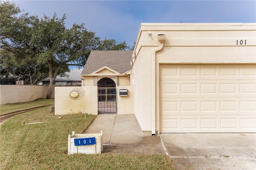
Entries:
[[254, 80], [217, 81], [218, 83], [213, 80], [162, 80], [160, 97], [256, 97]]

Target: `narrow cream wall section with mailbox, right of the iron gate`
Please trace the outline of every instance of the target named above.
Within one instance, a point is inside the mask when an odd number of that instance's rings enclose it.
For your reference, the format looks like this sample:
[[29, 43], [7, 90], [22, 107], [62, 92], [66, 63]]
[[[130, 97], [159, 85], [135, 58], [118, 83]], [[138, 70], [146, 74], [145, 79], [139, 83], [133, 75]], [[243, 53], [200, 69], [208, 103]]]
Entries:
[[[120, 96], [119, 90], [127, 89], [127, 96]], [[117, 114], [127, 115], [134, 114], [134, 87], [133, 86], [118, 86], [117, 87]]]

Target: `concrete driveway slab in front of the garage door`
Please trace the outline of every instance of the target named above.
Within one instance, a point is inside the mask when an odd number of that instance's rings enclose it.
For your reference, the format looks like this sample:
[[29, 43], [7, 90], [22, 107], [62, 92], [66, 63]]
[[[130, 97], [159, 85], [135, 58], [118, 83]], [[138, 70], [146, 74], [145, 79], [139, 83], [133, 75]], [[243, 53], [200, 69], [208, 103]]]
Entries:
[[176, 169], [255, 170], [255, 133], [160, 134]]

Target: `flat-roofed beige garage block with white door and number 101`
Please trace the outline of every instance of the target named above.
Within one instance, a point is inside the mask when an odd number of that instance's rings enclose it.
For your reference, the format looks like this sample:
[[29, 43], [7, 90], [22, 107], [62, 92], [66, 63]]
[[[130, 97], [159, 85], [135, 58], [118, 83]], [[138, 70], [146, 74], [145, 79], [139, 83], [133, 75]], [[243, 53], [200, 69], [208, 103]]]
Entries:
[[256, 132], [255, 23], [142, 23], [134, 53], [142, 130]]

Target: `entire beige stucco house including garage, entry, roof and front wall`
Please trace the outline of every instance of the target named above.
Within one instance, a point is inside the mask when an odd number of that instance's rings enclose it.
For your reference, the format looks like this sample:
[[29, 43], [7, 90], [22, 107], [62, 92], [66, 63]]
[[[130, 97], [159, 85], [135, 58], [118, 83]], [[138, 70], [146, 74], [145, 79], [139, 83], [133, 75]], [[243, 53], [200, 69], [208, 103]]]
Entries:
[[142, 23], [134, 51], [92, 51], [81, 78], [56, 87], [56, 115], [102, 113], [114, 88], [116, 113], [152, 135], [256, 132], [255, 23]]

